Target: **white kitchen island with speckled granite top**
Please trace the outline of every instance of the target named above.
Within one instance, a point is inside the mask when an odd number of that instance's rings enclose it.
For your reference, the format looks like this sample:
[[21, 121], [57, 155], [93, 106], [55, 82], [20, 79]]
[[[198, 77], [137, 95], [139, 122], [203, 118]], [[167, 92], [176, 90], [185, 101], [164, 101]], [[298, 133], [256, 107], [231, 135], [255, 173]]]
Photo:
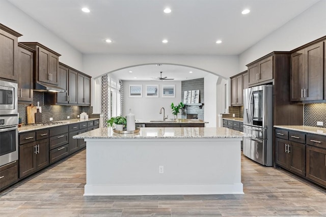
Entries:
[[243, 194], [242, 132], [228, 128], [99, 128], [87, 142], [87, 195]]

